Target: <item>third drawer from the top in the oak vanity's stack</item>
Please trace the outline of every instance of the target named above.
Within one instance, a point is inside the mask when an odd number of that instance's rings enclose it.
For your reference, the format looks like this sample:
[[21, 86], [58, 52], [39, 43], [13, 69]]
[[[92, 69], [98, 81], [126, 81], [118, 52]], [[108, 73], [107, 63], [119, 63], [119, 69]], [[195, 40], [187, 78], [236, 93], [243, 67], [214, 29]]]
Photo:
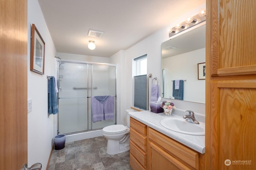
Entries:
[[146, 167], [146, 153], [143, 152], [139, 147], [137, 147], [132, 141], [130, 141], [130, 153], [136, 157], [138, 162], [140, 162], [140, 164], [144, 166], [144, 168]]

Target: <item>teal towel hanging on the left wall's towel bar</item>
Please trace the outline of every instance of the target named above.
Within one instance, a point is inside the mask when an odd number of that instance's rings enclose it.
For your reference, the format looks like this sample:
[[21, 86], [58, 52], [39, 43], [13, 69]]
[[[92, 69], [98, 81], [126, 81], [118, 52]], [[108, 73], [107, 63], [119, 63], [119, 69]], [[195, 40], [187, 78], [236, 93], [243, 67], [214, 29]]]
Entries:
[[57, 93], [55, 92], [54, 76], [48, 78], [48, 113], [54, 115], [58, 113], [58, 102]]

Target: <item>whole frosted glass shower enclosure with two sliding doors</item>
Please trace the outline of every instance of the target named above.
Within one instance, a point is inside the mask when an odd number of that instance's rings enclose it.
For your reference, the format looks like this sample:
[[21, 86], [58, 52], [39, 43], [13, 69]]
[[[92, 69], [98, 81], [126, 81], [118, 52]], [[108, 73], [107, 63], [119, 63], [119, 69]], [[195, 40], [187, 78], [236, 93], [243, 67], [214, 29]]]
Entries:
[[[57, 133], [75, 134], [116, 124], [116, 65], [57, 60]], [[114, 96], [114, 119], [92, 121], [91, 97]]]

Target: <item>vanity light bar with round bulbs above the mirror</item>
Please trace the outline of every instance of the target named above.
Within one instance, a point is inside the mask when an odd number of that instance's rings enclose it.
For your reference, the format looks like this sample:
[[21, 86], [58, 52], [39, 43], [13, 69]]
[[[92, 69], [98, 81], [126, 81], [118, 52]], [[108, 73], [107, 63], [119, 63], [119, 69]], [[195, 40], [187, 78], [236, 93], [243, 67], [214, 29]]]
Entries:
[[176, 35], [177, 33], [180, 33], [184, 31], [185, 29], [191, 28], [198, 23], [201, 23], [206, 20], [206, 10], [202, 9], [200, 10], [199, 14], [188, 18], [188, 20], [178, 23], [175, 27], [168, 29], [169, 32], [169, 38], [172, 37], [173, 35]]

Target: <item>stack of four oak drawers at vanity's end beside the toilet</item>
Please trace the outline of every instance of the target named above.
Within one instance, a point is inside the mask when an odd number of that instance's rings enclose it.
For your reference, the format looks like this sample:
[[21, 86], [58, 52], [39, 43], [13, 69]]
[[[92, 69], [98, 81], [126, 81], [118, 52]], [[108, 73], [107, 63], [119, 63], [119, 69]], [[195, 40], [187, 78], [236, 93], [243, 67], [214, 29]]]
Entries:
[[130, 117], [130, 166], [133, 170], [147, 169], [146, 125]]

